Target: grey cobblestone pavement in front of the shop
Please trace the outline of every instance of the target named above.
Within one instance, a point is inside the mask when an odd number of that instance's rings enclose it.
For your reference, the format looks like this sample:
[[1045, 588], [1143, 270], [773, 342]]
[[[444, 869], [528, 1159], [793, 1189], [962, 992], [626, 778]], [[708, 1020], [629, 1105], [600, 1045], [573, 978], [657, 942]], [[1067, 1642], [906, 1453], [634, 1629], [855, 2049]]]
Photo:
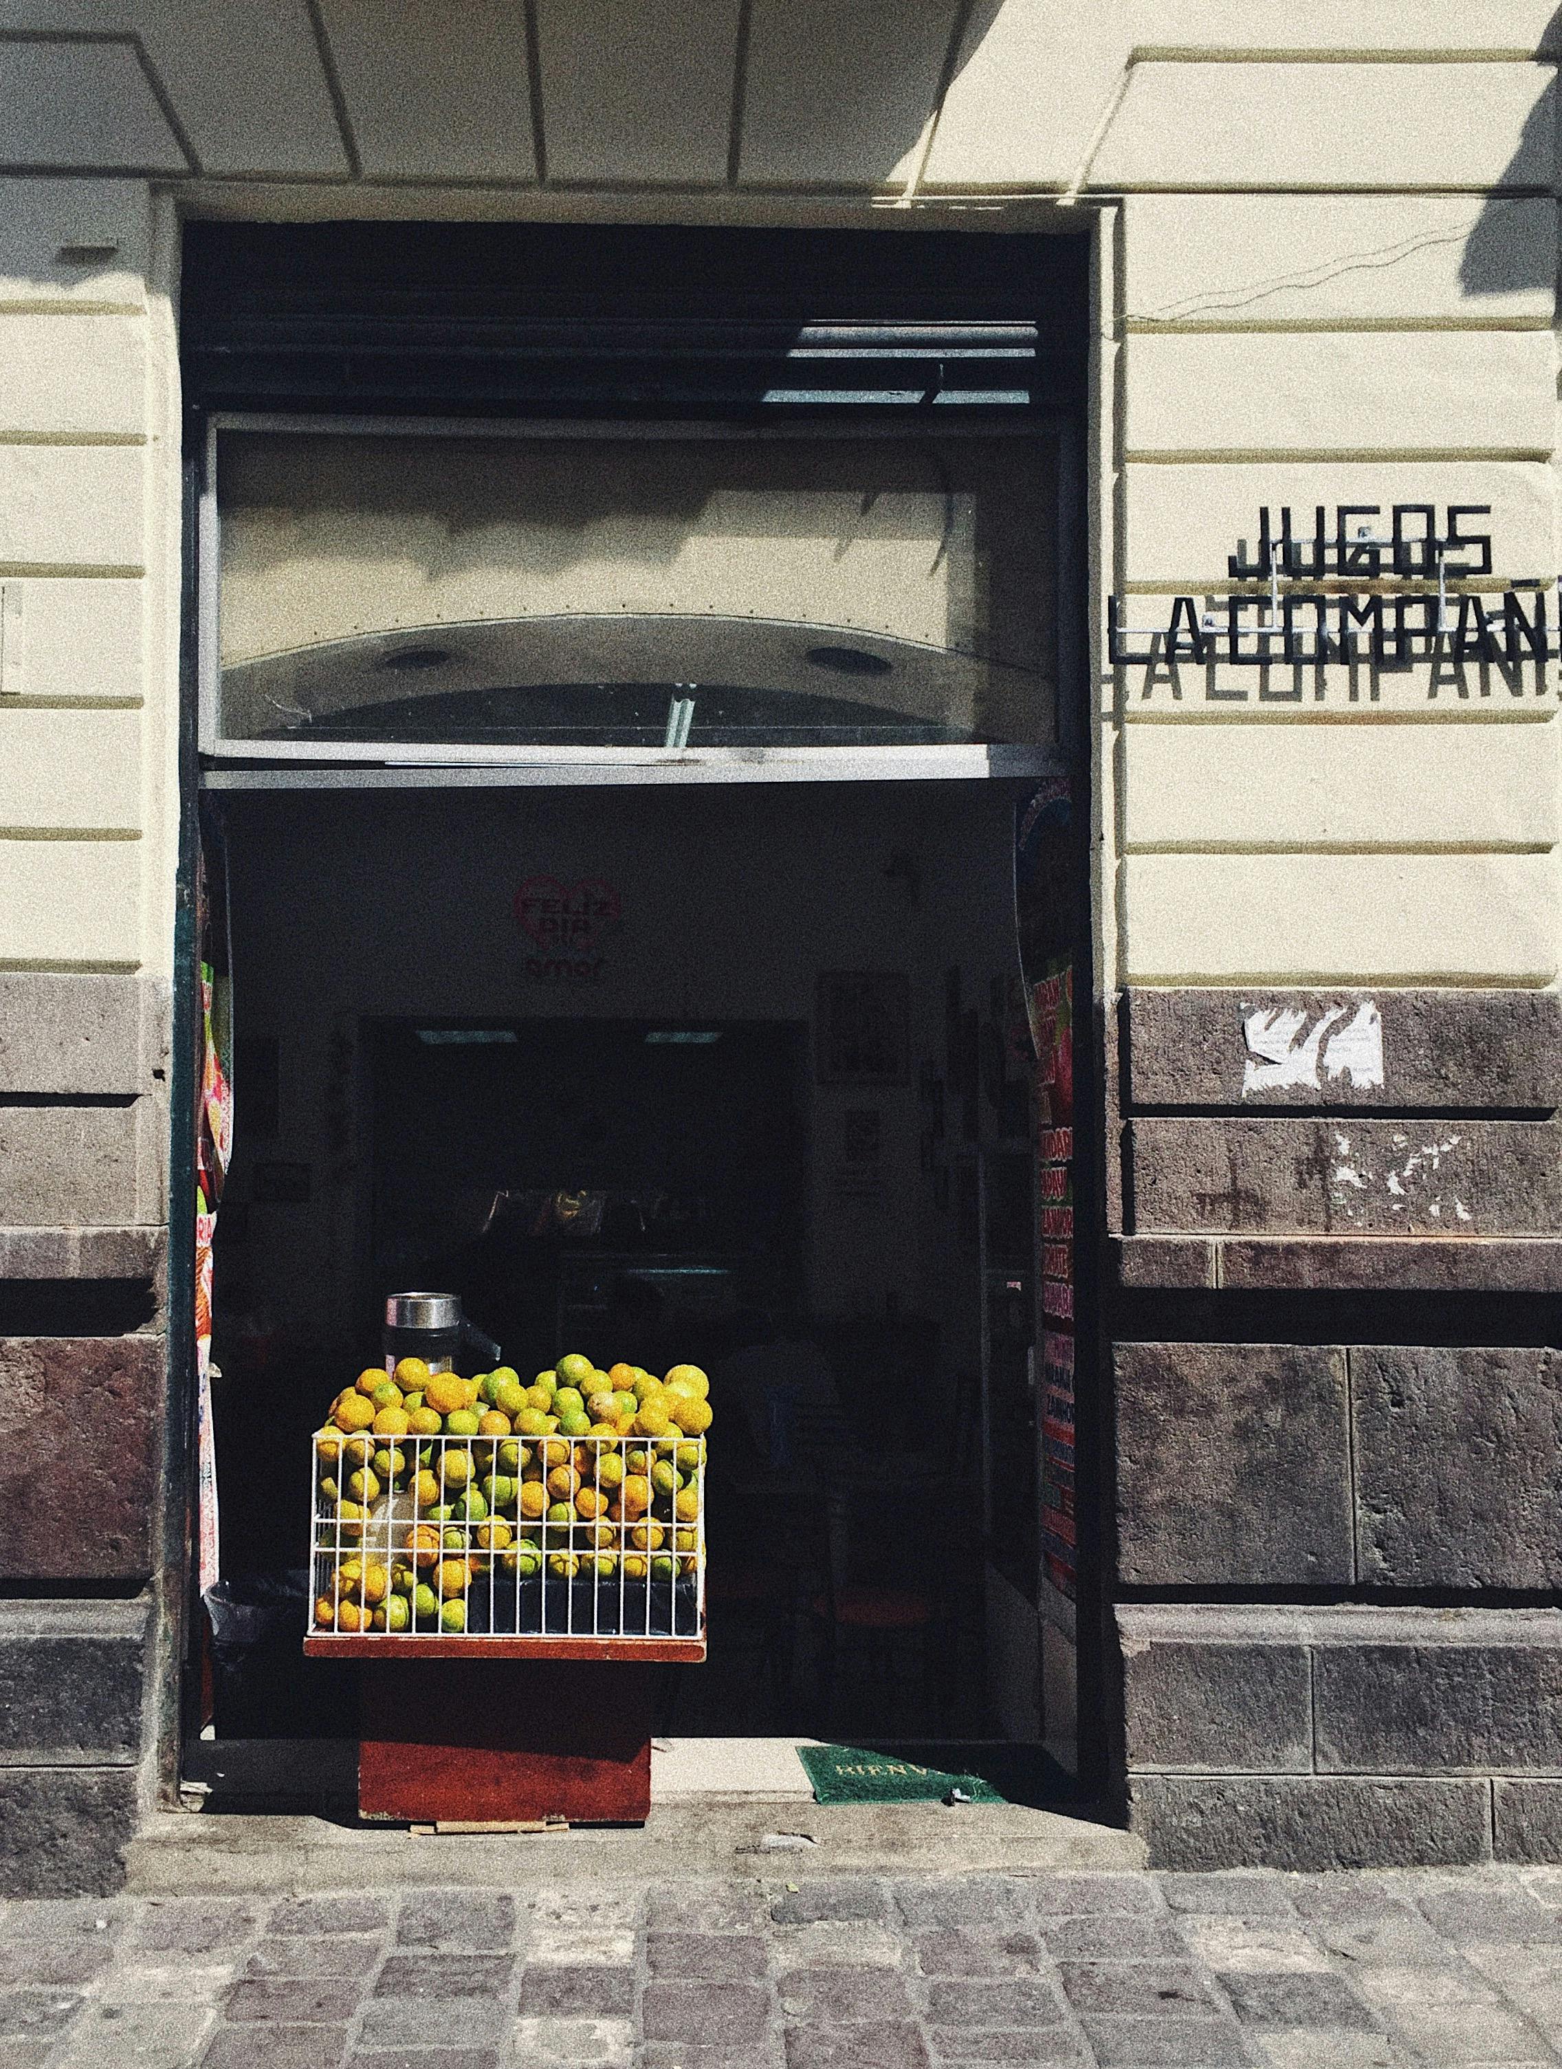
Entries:
[[1562, 1870], [0, 1908], [0, 2069], [1562, 2061]]

